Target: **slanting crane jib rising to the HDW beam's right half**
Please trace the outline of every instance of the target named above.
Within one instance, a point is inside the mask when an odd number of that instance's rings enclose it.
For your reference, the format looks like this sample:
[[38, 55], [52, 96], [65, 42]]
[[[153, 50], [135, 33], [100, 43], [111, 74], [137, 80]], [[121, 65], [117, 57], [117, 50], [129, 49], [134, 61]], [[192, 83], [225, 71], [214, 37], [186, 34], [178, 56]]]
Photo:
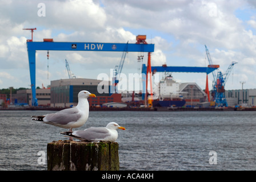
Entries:
[[128, 42], [127, 42], [127, 44], [125, 46], [125, 50], [124, 50], [124, 52], [122, 54], [121, 61], [120, 61], [119, 65], [115, 65], [115, 69], [114, 69], [114, 73], [113, 73], [113, 76], [114, 76], [114, 78], [113, 78], [113, 81], [114, 81], [114, 93], [117, 93], [117, 84], [119, 82], [120, 74], [121, 74], [122, 69], [123, 69], [123, 63], [125, 63], [125, 57], [126, 57], [126, 53], [127, 53]]

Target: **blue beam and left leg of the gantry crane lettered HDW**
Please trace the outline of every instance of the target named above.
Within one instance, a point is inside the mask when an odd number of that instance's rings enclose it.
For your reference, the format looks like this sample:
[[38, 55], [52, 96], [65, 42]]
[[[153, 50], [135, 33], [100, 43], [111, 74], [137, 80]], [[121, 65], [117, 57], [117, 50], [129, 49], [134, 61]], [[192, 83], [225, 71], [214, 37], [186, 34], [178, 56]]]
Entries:
[[35, 52], [36, 51], [109, 51], [109, 52], [154, 52], [154, 44], [99, 43], [99, 42], [54, 42], [43, 39], [43, 42], [27, 40], [29, 57], [30, 82], [32, 90], [31, 104], [38, 106], [35, 93]]

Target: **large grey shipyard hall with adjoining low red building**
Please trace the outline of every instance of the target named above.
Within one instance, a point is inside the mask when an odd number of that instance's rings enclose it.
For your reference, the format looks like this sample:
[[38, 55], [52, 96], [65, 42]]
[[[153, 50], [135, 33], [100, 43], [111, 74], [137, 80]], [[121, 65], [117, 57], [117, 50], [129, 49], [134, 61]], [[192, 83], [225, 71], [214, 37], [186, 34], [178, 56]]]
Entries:
[[101, 88], [107, 92], [99, 93], [98, 85], [101, 85], [101, 80], [87, 78], [71, 78], [51, 81], [51, 107], [70, 107], [76, 106], [78, 103], [78, 93], [81, 90], [87, 90], [96, 95], [89, 97], [89, 105], [102, 106], [107, 102], [121, 102], [121, 94], [110, 94], [110, 82], [105, 81], [107, 88]]

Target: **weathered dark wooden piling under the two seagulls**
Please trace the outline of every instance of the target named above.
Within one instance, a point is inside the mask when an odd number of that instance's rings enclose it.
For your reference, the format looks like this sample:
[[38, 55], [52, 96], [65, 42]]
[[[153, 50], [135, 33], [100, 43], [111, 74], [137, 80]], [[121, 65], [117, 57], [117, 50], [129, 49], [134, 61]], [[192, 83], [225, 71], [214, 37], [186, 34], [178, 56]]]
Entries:
[[118, 171], [117, 142], [59, 140], [47, 144], [48, 171]]

